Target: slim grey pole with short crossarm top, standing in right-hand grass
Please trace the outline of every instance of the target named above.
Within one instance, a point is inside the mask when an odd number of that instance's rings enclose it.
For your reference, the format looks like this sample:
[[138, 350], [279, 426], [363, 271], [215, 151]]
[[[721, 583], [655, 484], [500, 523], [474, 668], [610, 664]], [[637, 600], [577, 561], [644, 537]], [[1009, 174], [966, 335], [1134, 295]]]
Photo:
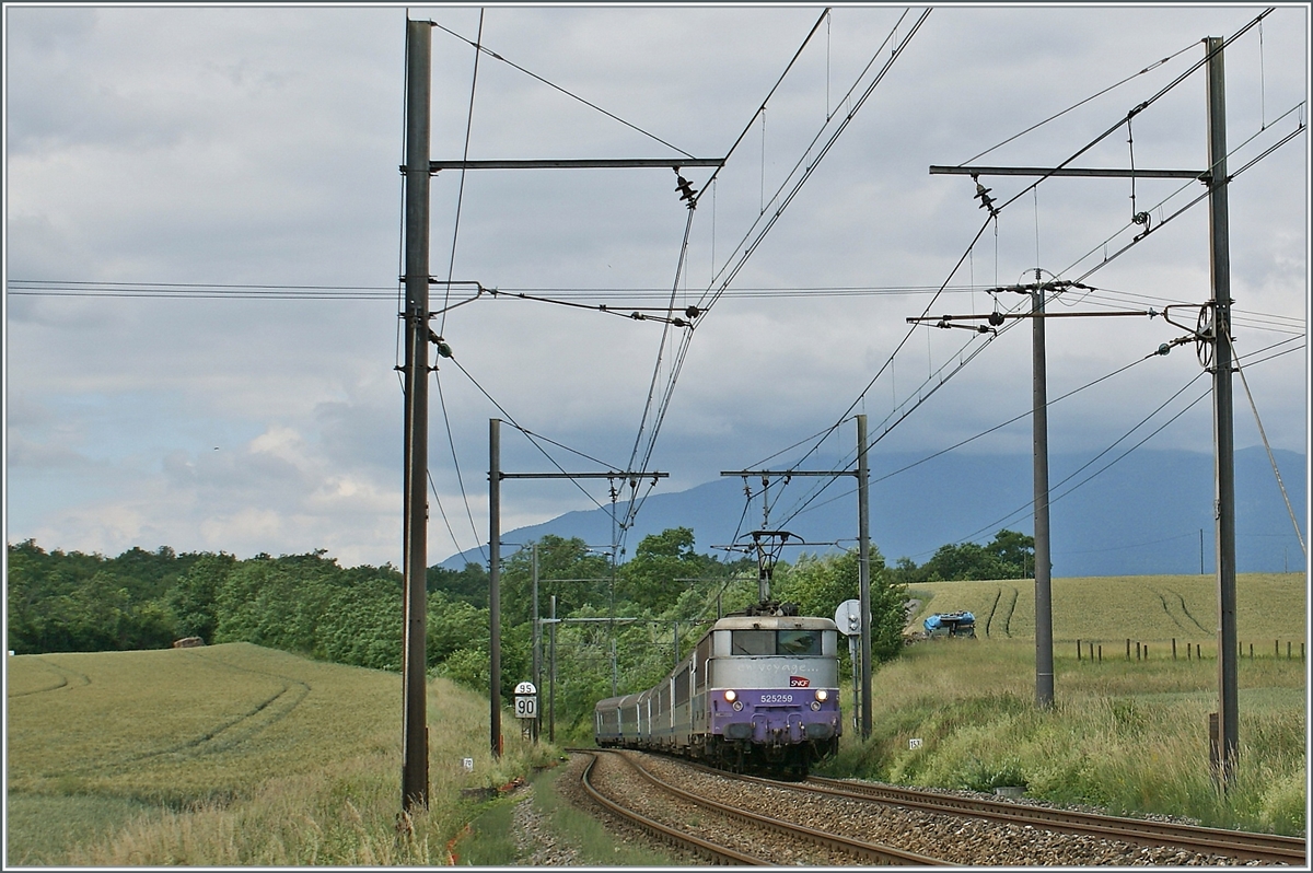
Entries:
[[1040, 270], [1035, 270], [1031, 311], [1035, 318], [1031, 343], [1031, 406], [1035, 477], [1035, 704], [1053, 705], [1053, 601], [1052, 561], [1049, 558], [1049, 399], [1048, 368], [1044, 351], [1044, 291]]

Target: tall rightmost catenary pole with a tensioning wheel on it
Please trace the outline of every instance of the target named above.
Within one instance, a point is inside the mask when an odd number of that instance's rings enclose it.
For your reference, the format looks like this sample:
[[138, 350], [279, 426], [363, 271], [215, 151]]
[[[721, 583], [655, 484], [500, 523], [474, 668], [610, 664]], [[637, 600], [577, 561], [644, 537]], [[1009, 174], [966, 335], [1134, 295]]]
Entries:
[[1213, 298], [1213, 437], [1217, 538], [1217, 751], [1225, 786], [1239, 748], [1236, 675], [1236, 442], [1230, 347], [1230, 242], [1226, 206], [1226, 81], [1222, 39], [1208, 37], [1208, 228]]

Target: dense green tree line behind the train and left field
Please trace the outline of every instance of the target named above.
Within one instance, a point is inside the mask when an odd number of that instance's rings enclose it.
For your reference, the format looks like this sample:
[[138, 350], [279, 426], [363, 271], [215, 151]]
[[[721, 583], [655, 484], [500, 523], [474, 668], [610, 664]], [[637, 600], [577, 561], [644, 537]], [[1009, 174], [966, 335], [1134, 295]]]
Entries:
[[[1008, 533], [995, 538], [997, 549], [986, 547], [991, 561], [1015, 561], [1007, 555], [1024, 546], [1016, 540], [1020, 534], [1003, 536]], [[645, 537], [632, 559], [614, 566], [578, 538], [549, 534], [534, 545], [540, 617], [548, 616], [551, 596], [559, 618], [616, 617], [557, 625], [557, 725], [567, 735], [571, 726], [587, 731], [593, 702], [609, 696], [613, 684], [621, 693], [654, 685], [720, 614], [758, 597], [755, 559], [721, 561], [699, 553], [688, 528]], [[924, 567], [903, 558], [886, 568], [872, 549], [874, 659], [894, 658], [902, 646], [906, 584], [952, 571], [948, 554], [940, 553]], [[133, 547], [106, 558], [47, 553], [33, 540], [9, 545], [8, 558], [8, 642], [16, 654], [161, 649], [181, 637], [200, 637], [206, 643], [251, 642], [343, 664], [400, 668], [402, 574], [391, 564], [347, 568], [323, 550], [238, 559], [226, 553], [177, 554], [168, 546]], [[503, 562], [507, 701], [519, 681], [534, 679], [532, 564], [528, 546]], [[433, 566], [425, 586], [431, 673], [484, 691], [487, 568]], [[780, 562], [771, 593], [798, 604], [801, 614], [832, 616], [840, 603], [857, 596], [857, 555], [804, 554], [792, 564]], [[540, 652], [545, 693], [546, 634]], [[840, 658], [851, 670], [843, 647]]]

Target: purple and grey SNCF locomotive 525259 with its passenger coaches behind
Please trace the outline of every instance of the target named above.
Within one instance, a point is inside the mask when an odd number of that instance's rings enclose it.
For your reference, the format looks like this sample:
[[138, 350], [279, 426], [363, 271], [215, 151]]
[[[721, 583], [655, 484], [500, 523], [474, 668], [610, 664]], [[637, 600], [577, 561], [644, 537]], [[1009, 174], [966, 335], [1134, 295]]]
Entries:
[[802, 778], [839, 748], [838, 637], [829, 618], [726, 616], [663, 683], [597, 702], [597, 746]]

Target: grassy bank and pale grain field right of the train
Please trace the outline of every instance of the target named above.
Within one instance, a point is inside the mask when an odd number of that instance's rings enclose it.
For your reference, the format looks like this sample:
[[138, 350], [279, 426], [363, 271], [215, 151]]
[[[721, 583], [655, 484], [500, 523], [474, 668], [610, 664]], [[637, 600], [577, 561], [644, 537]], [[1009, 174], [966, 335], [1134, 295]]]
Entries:
[[[923, 601], [916, 628], [931, 612], [969, 609], [978, 639], [922, 642], [884, 666], [873, 679], [869, 743], [856, 742], [850, 723], [827, 771], [941, 788], [1024, 785], [1031, 797], [1113, 813], [1304, 832], [1302, 575], [1238, 580], [1239, 767], [1225, 796], [1208, 764], [1208, 713], [1217, 709], [1212, 576], [1054, 579], [1052, 712], [1033, 704], [1032, 583], [935, 583], [913, 596]], [[1102, 645], [1103, 660], [1091, 662], [1087, 646], [1078, 660], [1077, 639], [1094, 642], [1096, 655]], [[1148, 646], [1146, 659], [1136, 659], [1136, 642]], [[1186, 659], [1186, 642], [1201, 647], [1201, 660]], [[911, 739], [922, 746], [910, 748]]]

